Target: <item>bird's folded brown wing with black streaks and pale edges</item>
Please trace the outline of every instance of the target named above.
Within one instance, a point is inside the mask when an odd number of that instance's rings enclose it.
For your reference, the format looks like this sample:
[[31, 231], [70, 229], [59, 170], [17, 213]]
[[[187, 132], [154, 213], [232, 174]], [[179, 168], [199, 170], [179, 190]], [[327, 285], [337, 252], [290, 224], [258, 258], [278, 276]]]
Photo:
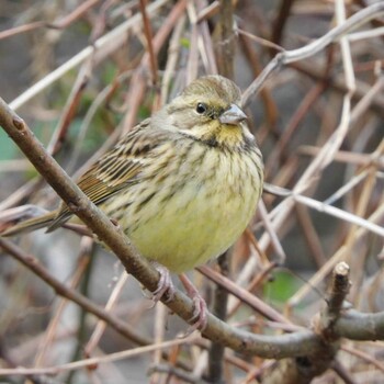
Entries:
[[[149, 123], [147, 118], [132, 129], [80, 177], [79, 188], [94, 204], [101, 204], [128, 184], [139, 182], [148, 153], [161, 143], [158, 138], [162, 135], [156, 136]], [[48, 231], [61, 226], [71, 215], [63, 204]]]

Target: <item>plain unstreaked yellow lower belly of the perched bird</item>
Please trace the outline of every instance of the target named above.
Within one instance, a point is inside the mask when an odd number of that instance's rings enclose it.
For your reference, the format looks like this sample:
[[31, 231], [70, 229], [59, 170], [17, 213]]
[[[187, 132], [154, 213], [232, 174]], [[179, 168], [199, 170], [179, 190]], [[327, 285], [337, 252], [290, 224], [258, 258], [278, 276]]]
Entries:
[[139, 226], [129, 238], [139, 252], [173, 272], [202, 264], [225, 251], [242, 233], [249, 211], [239, 204], [208, 206], [199, 199]]

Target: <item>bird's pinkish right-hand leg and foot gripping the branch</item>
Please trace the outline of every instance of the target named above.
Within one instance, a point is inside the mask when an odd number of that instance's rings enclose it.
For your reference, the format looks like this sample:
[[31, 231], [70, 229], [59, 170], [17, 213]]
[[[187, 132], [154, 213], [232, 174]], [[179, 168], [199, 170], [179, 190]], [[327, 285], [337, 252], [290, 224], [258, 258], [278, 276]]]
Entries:
[[187, 294], [193, 301], [193, 316], [191, 320], [195, 320], [195, 323], [190, 327], [185, 336], [192, 334], [196, 329], [203, 331], [208, 320], [208, 309], [206, 307], [205, 300], [201, 296], [196, 287], [192, 284], [191, 280], [187, 278], [187, 274], [179, 274], [179, 279], [184, 285]]

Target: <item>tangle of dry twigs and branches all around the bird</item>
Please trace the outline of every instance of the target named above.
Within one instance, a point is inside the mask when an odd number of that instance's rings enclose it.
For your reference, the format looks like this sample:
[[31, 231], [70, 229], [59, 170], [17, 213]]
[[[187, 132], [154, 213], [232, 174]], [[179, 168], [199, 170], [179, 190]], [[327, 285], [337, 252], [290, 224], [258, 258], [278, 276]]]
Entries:
[[[384, 381], [382, 1], [1, 7], [0, 97], [46, 149], [2, 102], [0, 227], [80, 196], [121, 262], [67, 229], [0, 238], [0, 382]], [[204, 337], [178, 338], [191, 301], [150, 308], [133, 276], [150, 290], [156, 271], [48, 154], [76, 179], [214, 72], [244, 90], [267, 184], [231, 255], [192, 275], [212, 310]]]

